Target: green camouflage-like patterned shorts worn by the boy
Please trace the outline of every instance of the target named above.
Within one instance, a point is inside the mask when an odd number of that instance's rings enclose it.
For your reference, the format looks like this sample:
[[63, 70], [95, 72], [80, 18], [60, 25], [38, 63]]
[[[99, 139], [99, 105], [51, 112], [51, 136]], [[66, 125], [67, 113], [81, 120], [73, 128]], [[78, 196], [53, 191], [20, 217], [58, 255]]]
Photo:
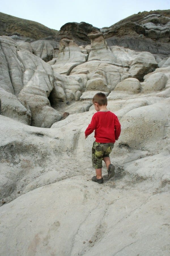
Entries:
[[103, 157], [109, 157], [112, 152], [114, 143], [94, 142], [92, 147], [92, 164], [95, 169], [102, 168]]

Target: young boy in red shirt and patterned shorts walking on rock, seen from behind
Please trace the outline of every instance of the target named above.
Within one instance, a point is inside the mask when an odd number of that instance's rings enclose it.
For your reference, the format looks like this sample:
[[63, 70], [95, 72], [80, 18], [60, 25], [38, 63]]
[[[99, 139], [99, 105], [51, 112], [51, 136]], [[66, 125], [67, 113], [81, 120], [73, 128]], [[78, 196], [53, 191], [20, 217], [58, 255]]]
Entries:
[[92, 116], [91, 123], [85, 131], [85, 139], [95, 130], [95, 142], [92, 147], [92, 164], [96, 176], [92, 181], [103, 183], [101, 176], [102, 160], [105, 162], [109, 179], [114, 176], [114, 165], [111, 164], [109, 154], [111, 153], [115, 140], [120, 136], [120, 123], [117, 116], [107, 109], [107, 97], [104, 93], [96, 93], [93, 97], [94, 108], [97, 111]]

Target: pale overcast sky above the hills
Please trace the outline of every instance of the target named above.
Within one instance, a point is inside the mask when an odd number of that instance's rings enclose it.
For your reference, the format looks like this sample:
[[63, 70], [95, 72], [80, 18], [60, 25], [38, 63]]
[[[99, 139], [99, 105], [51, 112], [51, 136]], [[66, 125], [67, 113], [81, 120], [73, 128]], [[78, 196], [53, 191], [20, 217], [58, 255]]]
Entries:
[[2, 13], [37, 21], [56, 30], [74, 21], [109, 27], [139, 11], [167, 9], [170, 0], [8, 0], [0, 4]]

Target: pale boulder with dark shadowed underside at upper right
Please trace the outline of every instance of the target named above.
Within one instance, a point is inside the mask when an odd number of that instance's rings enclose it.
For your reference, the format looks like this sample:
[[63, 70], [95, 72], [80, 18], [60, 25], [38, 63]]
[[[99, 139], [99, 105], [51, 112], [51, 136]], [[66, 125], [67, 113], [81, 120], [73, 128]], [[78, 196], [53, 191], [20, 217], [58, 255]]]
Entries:
[[157, 67], [158, 63], [154, 56], [149, 52], [142, 52], [134, 59], [128, 72], [132, 77], [141, 81], [146, 74], [154, 71]]

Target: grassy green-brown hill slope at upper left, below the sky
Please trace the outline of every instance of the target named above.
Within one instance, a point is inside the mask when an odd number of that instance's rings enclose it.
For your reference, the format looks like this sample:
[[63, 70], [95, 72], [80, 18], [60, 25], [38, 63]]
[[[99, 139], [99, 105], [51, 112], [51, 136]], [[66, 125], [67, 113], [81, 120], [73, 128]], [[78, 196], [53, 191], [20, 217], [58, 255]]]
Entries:
[[35, 21], [0, 13], [0, 36], [12, 36], [14, 34], [38, 40], [47, 36], [55, 37], [57, 30], [50, 29]]

